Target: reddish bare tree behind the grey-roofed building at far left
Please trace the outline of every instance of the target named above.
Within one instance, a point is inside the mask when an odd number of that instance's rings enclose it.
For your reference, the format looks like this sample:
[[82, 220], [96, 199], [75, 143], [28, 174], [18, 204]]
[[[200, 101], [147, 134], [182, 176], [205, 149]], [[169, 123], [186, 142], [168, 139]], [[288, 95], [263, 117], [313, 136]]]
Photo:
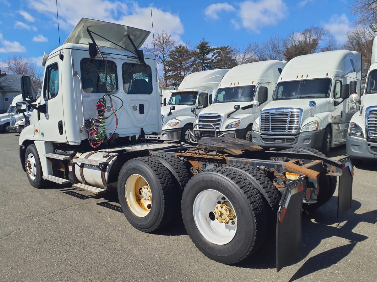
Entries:
[[27, 74], [34, 82], [37, 93], [42, 90], [42, 73], [28, 57], [13, 56], [2, 61], [9, 74]]

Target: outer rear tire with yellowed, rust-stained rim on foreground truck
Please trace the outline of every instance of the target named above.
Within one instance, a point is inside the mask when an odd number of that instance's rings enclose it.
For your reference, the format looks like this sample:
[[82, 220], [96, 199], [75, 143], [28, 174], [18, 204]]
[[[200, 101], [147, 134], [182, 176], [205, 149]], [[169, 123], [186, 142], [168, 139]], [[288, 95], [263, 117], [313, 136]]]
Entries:
[[174, 180], [159, 159], [127, 161], [118, 177], [118, 198], [129, 223], [143, 232], [155, 231], [172, 218], [177, 206]]

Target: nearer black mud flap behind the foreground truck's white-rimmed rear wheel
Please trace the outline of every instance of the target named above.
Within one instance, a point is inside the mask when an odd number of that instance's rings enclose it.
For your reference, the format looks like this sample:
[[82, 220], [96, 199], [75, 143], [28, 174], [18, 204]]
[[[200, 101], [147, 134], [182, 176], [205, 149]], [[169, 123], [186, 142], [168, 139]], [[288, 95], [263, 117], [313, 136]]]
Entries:
[[276, 223], [276, 271], [291, 264], [301, 248], [303, 176], [288, 182], [279, 203]]

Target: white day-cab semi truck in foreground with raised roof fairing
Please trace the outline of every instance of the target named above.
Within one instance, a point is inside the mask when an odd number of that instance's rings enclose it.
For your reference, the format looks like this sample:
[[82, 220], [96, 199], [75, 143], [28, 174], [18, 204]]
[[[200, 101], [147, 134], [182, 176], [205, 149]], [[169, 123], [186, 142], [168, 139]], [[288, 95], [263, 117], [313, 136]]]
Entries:
[[[338, 211], [351, 205], [351, 162], [311, 149], [262, 151], [235, 138], [204, 138], [195, 147], [129, 141], [161, 132], [156, 60], [138, 50], [148, 35], [83, 18], [44, 56], [37, 105], [30, 77], [22, 77], [23, 100], [34, 108], [19, 139], [30, 184], [114, 191], [129, 223], [143, 232], [182, 213], [195, 245], [225, 264], [271, 244], [264, 239], [276, 230], [280, 270], [299, 253], [302, 208], [326, 203], [337, 183]], [[25, 111], [25, 103], [17, 109]]]

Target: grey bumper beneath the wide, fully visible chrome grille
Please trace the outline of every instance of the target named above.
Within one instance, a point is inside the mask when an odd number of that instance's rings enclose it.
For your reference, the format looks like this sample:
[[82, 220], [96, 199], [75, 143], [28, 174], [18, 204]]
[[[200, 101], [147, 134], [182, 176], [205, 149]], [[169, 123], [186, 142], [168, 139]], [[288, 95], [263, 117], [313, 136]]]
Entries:
[[299, 135], [266, 135], [251, 133], [252, 142], [264, 148], [322, 147], [325, 130], [300, 132]]

